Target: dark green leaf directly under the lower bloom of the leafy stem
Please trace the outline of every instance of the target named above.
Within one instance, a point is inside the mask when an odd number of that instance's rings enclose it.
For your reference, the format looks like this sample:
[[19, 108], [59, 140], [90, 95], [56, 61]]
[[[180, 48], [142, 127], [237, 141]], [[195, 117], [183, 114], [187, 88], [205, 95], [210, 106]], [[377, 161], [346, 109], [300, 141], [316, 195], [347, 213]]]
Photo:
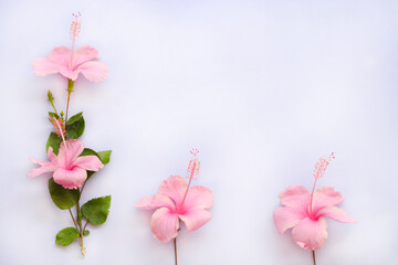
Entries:
[[80, 191], [77, 189], [64, 189], [55, 183], [53, 178], [49, 179], [49, 190], [51, 199], [61, 210], [70, 209], [78, 202]]

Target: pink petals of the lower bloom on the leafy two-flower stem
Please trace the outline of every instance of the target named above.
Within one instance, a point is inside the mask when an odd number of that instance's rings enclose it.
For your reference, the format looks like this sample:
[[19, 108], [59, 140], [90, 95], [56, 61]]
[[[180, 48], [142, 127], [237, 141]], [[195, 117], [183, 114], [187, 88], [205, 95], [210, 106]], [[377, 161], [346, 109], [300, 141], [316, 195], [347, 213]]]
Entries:
[[55, 183], [65, 189], [77, 189], [87, 179], [86, 170], [98, 171], [104, 167], [97, 156], [80, 157], [83, 150], [84, 145], [77, 139], [62, 141], [57, 155], [53, 152], [52, 147], [49, 147], [48, 157], [50, 161], [31, 159], [32, 162], [40, 165], [40, 167], [32, 169], [28, 177], [36, 177], [54, 171]]

